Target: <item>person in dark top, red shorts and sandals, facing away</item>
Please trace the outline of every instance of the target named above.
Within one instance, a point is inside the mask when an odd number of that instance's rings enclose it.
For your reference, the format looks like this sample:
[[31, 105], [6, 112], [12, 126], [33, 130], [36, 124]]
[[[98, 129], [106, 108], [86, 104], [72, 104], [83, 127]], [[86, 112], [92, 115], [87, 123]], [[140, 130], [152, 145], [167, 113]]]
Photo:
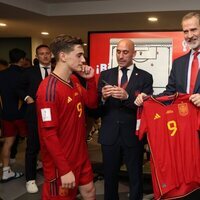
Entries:
[[18, 82], [23, 73], [23, 63], [26, 53], [18, 48], [9, 51], [10, 67], [0, 73], [0, 95], [2, 103], [2, 134], [5, 138], [2, 148], [3, 174], [1, 182], [23, 176], [22, 172], [14, 172], [10, 168], [10, 151], [16, 136], [27, 135], [27, 127], [24, 120], [25, 104], [17, 94]]

